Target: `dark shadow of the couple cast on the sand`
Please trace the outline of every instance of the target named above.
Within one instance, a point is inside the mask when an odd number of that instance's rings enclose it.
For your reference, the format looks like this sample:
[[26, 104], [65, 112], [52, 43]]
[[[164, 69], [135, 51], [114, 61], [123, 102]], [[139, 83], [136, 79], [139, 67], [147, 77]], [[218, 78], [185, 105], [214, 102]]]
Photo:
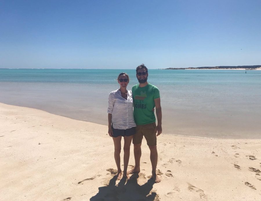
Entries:
[[102, 200], [159, 200], [155, 192], [151, 192], [154, 181], [149, 179], [147, 183], [139, 185], [137, 182], [139, 175], [133, 174], [129, 180], [122, 178], [116, 186], [117, 176], [114, 176], [108, 186], [99, 187], [99, 192], [90, 198], [90, 201]]

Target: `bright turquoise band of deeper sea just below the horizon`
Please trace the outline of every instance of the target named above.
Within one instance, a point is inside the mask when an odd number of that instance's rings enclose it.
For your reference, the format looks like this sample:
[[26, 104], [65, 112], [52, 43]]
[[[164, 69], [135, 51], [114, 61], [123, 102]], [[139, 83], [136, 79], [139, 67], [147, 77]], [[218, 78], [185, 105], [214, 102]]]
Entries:
[[[113, 84], [120, 72], [136, 83], [135, 70], [103, 69], [0, 69], [0, 82]], [[99, 76], [101, 79], [97, 79]], [[248, 70], [149, 70], [151, 82], [164, 85], [225, 83], [260, 84], [261, 71]]]

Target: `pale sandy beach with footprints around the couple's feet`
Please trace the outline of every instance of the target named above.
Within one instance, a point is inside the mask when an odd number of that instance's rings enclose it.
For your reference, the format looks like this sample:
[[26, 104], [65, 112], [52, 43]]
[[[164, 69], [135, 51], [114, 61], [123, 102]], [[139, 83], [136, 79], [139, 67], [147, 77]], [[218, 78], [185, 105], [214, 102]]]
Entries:
[[[261, 139], [162, 134], [157, 138], [162, 181], [153, 184], [145, 140], [141, 172], [116, 181], [113, 140], [104, 125], [0, 103], [0, 128], [0, 200], [261, 198]], [[123, 164], [123, 150], [121, 156]]]

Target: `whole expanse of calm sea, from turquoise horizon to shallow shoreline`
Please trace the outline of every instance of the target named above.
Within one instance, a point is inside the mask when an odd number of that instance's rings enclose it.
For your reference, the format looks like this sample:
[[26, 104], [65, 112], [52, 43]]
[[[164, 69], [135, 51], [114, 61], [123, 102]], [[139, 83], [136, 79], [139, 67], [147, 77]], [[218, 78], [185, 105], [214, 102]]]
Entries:
[[[107, 125], [108, 93], [120, 72], [135, 70], [0, 69], [0, 102]], [[163, 133], [261, 138], [261, 71], [149, 70], [160, 89]]]

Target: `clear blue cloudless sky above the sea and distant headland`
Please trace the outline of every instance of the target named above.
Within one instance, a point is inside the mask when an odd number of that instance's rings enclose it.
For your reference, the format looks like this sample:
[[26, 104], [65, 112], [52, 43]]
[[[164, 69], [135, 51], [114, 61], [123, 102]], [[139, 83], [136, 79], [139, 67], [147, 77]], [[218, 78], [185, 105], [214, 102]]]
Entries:
[[260, 10], [260, 0], [1, 0], [0, 68], [261, 65]]

